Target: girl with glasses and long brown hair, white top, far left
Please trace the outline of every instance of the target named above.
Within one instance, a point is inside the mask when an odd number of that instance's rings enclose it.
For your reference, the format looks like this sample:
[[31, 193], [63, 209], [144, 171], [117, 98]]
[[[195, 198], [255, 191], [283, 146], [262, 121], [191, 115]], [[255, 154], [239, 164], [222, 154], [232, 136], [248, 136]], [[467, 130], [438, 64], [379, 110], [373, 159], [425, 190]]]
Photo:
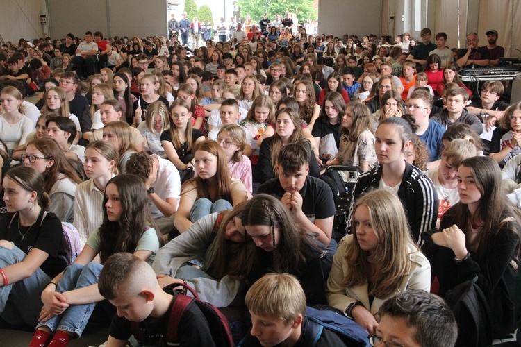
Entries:
[[45, 192], [51, 197], [49, 210], [60, 221], [72, 223], [76, 188], [82, 180], [58, 143], [53, 139], [35, 139], [27, 144], [22, 161], [44, 177]]

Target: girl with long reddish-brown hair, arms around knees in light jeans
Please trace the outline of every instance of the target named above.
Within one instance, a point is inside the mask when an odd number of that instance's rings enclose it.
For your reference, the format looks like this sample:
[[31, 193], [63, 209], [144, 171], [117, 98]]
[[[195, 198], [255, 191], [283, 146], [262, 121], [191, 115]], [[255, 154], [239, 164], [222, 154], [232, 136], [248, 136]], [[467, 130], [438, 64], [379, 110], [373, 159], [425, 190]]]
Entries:
[[183, 183], [174, 226], [185, 232], [210, 213], [231, 210], [247, 200], [245, 185], [230, 175], [226, 153], [213, 140], [195, 145], [194, 166], [197, 177]]

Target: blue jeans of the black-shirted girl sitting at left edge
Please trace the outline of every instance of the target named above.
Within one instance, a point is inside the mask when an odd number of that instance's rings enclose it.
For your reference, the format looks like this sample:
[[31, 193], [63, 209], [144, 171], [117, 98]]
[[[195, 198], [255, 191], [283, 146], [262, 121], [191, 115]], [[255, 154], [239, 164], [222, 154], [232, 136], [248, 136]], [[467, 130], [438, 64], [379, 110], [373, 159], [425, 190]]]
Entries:
[[[13, 244], [13, 249], [0, 246], [0, 268], [22, 262], [26, 254]], [[0, 316], [12, 325], [38, 324], [42, 310], [41, 294], [51, 281], [47, 273], [37, 269], [31, 276], [0, 287]]]

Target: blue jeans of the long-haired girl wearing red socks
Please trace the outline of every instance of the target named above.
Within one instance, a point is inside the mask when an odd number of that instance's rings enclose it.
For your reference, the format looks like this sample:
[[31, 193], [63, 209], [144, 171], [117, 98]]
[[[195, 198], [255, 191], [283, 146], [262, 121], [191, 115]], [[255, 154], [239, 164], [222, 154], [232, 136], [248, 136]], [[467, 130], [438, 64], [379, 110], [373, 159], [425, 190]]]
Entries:
[[[60, 282], [58, 282], [58, 288], [56, 290], [63, 293], [65, 291], [95, 285], [98, 282], [101, 269], [103, 269], [103, 265], [97, 262], [90, 262], [85, 266], [81, 264], [71, 264], [63, 271], [63, 276]], [[37, 328], [47, 326], [52, 332], [63, 330], [73, 332], [80, 337], [96, 304], [97, 303], [70, 305], [63, 314], [54, 316], [43, 323], [39, 323]]]

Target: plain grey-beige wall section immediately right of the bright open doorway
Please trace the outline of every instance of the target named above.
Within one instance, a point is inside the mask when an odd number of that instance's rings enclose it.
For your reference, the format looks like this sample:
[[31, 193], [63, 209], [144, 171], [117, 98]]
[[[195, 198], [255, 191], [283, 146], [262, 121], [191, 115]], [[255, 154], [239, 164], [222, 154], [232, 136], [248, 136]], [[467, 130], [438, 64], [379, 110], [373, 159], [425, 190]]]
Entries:
[[319, 33], [381, 34], [382, 0], [320, 0]]

